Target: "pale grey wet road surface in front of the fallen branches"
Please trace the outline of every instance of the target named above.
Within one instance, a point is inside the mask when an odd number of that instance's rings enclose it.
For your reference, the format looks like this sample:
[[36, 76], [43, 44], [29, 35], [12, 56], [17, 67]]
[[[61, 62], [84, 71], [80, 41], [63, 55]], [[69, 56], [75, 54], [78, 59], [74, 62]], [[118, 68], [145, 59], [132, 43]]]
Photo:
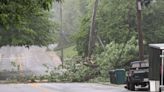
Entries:
[[0, 84], [0, 92], [131, 92], [123, 86], [92, 83]]

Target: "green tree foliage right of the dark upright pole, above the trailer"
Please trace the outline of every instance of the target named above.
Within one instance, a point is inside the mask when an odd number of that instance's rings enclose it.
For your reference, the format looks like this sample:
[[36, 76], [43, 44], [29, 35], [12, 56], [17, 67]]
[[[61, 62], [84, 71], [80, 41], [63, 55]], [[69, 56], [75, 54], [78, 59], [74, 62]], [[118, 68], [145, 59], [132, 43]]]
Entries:
[[143, 32], [144, 37], [149, 43], [161, 43], [164, 41], [163, 24], [164, 24], [164, 1], [158, 0], [156, 3], [151, 4], [143, 11]]

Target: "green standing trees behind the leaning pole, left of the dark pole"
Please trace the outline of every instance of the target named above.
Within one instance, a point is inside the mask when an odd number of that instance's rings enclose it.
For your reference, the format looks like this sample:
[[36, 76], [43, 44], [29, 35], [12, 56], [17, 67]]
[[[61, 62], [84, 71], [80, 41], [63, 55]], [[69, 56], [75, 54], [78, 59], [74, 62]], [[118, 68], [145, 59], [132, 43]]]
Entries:
[[[132, 3], [132, 5], [130, 5]], [[133, 12], [130, 12], [128, 17], [129, 10], [135, 9], [133, 6], [135, 3], [130, 2], [126, 3], [120, 0], [110, 0], [110, 1], [101, 1], [98, 9], [98, 14], [96, 18], [96, 30], [97, 35], [100, 36], [103, 44], [108, 44], [111, 41], [116, 43], [124, 43], [127, 40], [127, 35], [134, 36], [136, 35], [135, 27], [135, 16]], [[90, 29], [90, 19], [91, 13], [88, 11], [88, 14], [83, 18], [81, 22], [80, 32], [75, 34], [77, 42], [77, 50], [79, 55], [85, 56], [87, 53], [86, 46], [88, 44], [88, 33]], [[128, 20], [130, 22], [128, 22]], [[130, 25], [130, 27], [129, 27]], [[100, 47], [100, 48], [99, 48]], [[102, 49], [99, 44], [97, 48]], [[97, 52], [98, 51], [98, 52]], [[96, 50], [94, 53], [100, 53], [103, 50]]]

